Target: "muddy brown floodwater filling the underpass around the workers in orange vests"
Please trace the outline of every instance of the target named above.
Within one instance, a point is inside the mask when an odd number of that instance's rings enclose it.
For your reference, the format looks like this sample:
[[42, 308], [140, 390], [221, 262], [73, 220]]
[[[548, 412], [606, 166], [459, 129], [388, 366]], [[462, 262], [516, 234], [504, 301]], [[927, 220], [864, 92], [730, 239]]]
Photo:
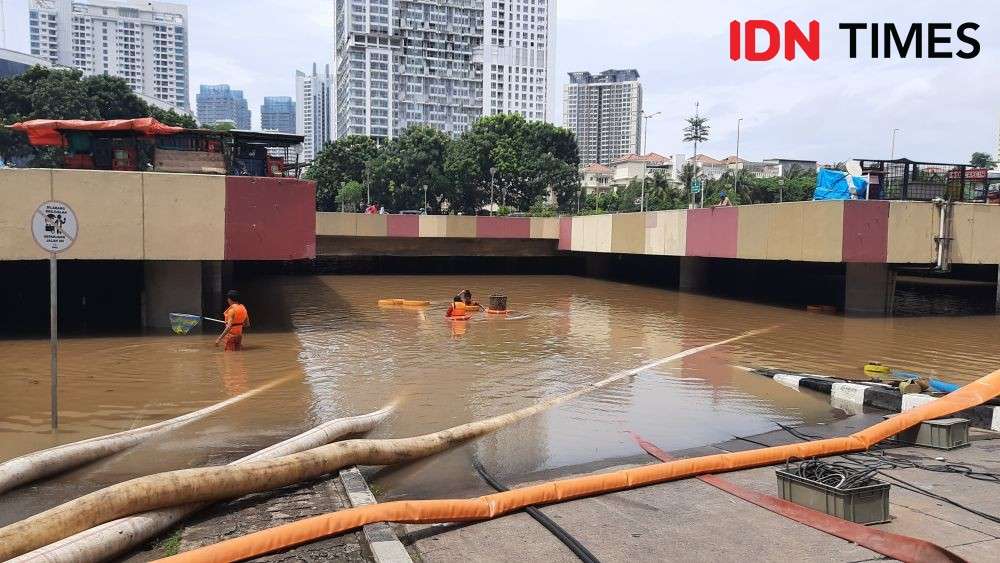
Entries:
[[[502, 290], [516, 313], [443, 318], [468, 287]], [[214, 335], [67, 338], [61, 427], [49, 431], [48, 341], [0, 341], [0, 460], [164, 420], [278, 378], [265, 393], [122, 454], [9, 493], [0, 523], [155, 471], [231, 461], [321, 421], [397, 402], [371, 435], [405, 437], [509, 412], [681, 350], [774, 327], [666, 363], [375, 482], [387, 498], [481, 487], [478, 457], [502, 479], [613, 465], [634, 431], [682, 449], [843, 416], [825, 396], [739, 369], [860, 377], [868, 360], [967, 382], [1000, 366], [993, 316], [847, 319], [569, 276], [269, 277], [241, 288], [255, 319], [247, 349]], [[380, 308], [380, 298], [432, 300]], [[596, 464], [596, 465], [595, 465]]]

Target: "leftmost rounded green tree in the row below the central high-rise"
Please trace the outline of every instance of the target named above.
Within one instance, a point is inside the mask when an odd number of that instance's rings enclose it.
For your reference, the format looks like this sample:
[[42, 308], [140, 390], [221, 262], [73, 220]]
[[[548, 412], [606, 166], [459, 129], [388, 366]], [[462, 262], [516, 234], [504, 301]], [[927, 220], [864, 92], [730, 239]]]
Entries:
[[351, 180], [367, 181], [367, 163], [378, 153], [378, 146], [370, 137], [348, 135], [327, 143], [309, 165], [305, 178], [316, 181], [316, 209], [335, 211], [340, 186]]

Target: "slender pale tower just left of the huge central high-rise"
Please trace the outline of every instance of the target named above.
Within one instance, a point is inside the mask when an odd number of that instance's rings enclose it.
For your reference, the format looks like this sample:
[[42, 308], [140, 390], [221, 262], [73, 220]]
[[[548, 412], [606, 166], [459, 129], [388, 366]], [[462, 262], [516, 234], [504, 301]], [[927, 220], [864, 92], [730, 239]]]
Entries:
[[316, 71], [316, 63], [312, 74], [295, 71], [295, 132], [305, 137], [303, 162], [312, 162], [323, 145], [333, 140], [332, 83], [330, 65], [324, 74]]

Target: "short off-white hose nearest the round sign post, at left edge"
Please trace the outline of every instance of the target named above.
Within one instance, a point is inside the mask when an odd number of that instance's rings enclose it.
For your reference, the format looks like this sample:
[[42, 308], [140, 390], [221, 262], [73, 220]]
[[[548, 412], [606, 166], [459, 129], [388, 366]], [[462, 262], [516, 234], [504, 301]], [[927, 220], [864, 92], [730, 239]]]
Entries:
[[171, 418], [142, 428], [133, 428], [124, 432], [97, 436], [71, 444], [63, 444], [54, 448], [32, 452], [0, 464], [0, 494], [14, 487], [19, 487], [43, 477], [55, 475], [74, 467], [107, 457], [149, 438], [153, 434], [166, 432], [183, 426], [189, 422], [204, 418], [218, 410], [224, 409], [244, 399], [262, 393], [276, 385], [288, 381], [293, 376], [284, 377], [241, 393], [225, 401], [215, 403], [203, 409], [189, 412], [185, 415]]

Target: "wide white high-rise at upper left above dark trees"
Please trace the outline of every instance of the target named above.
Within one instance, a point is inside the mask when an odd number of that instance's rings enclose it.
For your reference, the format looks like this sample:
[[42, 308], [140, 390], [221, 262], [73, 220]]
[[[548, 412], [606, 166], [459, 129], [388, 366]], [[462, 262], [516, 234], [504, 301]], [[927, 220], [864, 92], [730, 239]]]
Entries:
[[31, 54], [190, 109], [187, 6], [145, 0], [31, 0]]

